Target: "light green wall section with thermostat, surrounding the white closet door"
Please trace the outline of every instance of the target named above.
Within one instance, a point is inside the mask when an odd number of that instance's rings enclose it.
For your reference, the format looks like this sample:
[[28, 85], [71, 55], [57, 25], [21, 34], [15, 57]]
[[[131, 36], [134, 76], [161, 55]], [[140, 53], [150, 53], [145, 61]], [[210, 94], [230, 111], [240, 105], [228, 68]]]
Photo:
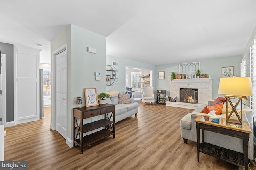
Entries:
[[[76, 97], [82, 96], [82, 106], [85, 106], [85, 87], [96, 87], [98, 94], [106, 91], [104, 76], [106, 72], [106, 37], [70, 25], [52, 41], [51, 51], [55, 51], [65, 43], [68, 44], [68, 138], [73, 139], [72, 109], [76, 107]], [[96, 54], [88, 53], [87, 47], [95, 48]], [[103, 73], [100, 81], [95, 80], [95, 72]]]

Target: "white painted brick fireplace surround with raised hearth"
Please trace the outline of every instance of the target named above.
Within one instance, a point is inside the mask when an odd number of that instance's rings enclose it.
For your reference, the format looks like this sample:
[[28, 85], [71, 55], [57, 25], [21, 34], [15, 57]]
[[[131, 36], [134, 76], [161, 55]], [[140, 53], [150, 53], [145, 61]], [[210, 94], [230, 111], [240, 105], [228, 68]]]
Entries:
[[[180, 102], [180, 88], [198, 89], [198, 104]], [[178, 96], [176, 102], [166, 102], [166, 106], [195, 109], [212, 100], [212, 78], [170, 80], [170, 96]]]

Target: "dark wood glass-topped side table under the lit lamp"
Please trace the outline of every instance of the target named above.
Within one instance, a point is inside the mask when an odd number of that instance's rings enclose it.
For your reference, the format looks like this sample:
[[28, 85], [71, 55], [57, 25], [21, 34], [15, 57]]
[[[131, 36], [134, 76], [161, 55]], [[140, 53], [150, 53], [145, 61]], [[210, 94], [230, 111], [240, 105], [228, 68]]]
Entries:
[[[208, 116], [200, 115], [195, 120], [196, 122], [196, 137], [197, 137], [197, 161], [199, 162], [199, 153], [208, 154], [216, 158], [225, 160], [232, 164], [242, 166], [248, 170], [248, 143], [249, 135], [252, 133], [248, 122], [243, 122], [242, 125], [226, 123], [226, 119], [222, 119], [220, 123], [212, 123]], [[202, 143], [200, 143], [200, 129], [202, 129]], [[243, 139], [244, 154], [218, 147], [210, 143], [204, 142], [204, 130], [229, 135]], [[227, 141], [228, 142], [228, 141]], [[214, 152], [213, 152], [214, 151]]]

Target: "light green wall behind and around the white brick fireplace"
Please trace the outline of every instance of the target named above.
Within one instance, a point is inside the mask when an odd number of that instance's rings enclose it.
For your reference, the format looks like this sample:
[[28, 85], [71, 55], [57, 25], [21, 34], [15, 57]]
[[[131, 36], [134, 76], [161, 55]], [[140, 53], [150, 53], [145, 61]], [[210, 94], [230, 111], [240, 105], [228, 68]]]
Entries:
[[[198, 61], [191, 61], [191, 62], [198, 62]], [[218, 82], [220, 81], [220, 77], [222, 74], [222, 67], [233, 66], [234, 67], [234, 75], [240, 77], [240, 63], [242, 62], [242, 56], [235, 56], [235, 57], [220, 57], [220, 58], [213, 58], [213, 59], [204, 59], [200, 60], [200, 70], [202, 70], [202, 74], [211, 75], [212, 80], [212, 97], [213, 99], [217, 98], [218, 96], [223, 96], [218, 94]], [[184, 62], [190, 63], [190, 62]], [[156, 79], [156, 88], [157, 90], [166, 90], [167, 96], [172, 96], [170, 94], [170, 86], [168, 80], [168, 76], [170, 76], [170, 72], [175, 72], [176, 74], [181, 74], [178, 72], [178, 64], [166, 64], [166, 65], [159, 65], [156, 66], [156, 77], [158, 77], [158, 71], [165, 71], [165, 79]], [[181, 63], [180, 63], [181, 64]], [[185, 73], [185, 74], [192, 74], [195, 72]]]

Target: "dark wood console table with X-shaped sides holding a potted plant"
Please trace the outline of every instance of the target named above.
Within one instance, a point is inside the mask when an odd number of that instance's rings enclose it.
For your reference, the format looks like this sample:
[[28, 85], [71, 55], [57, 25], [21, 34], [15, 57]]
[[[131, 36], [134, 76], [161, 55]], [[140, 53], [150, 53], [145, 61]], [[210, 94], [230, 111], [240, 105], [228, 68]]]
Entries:
[[[91, 145], [110, 135], [115, 138], [115, 105], [101, 104], [98, 106], [74, 108], [74, 147], [76, 144], [81, 147], [81, 154], [84, 152], [84, 147]], [[107, 113], [111, 113], [110, 117]], [[84, 124], [83, 119], [104, 115], [104, 119]], [[113, 121], [110, 121], [113, 117]], [[80, 121], [79, 121], [80, 120]], [[110, 126], [108, 126], [110, 125]], [[94, 132], [83, 137], [83, 134], [98, 128], [104, 129]], [[111, 128], [111, 130], [109, 129]]]

